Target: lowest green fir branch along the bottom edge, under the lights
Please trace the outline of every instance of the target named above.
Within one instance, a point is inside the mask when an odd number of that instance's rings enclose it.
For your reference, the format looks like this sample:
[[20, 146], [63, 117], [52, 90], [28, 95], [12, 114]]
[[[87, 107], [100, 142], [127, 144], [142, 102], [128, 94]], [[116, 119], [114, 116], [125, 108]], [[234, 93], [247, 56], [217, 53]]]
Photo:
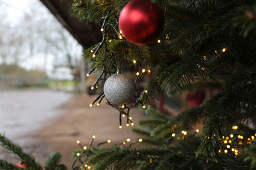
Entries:
[[[93, 151], [95, 155], [86, 163], [93, 164], [95, 169], [110, 169], [111, 167], [115, 167], [115, 169], [134, 169], [134, 167], [140, 167], [140, 169], [170, 169], [172, 166], [173, 169], [202, 169], [198, 164], [188, 164], [189, 161], [187, 162], [187, 160], [195, 160], [191, 150], [183, 148], [182, 144], [177, 147], [182, 150], [177, 150], [176, 147], [125, 148], [112, 146], [111, 148], [97, 148]], [[187, 160], [179, 159], [180, 157], [186, 157]], [[198, 160], [196, 162], [199, 162]]]

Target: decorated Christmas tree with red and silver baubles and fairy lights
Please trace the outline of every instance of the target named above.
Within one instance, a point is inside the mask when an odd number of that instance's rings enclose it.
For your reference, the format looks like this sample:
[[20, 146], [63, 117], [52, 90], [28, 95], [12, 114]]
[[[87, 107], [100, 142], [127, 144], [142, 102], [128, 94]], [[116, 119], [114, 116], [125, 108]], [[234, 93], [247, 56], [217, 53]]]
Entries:
[[[253, 169], [256, 166], [255, 1], [155, 0], [152, 4], [135, 0], [128, 7], [127, 3], [128, 0], [74, 0], [72, 11], [81, 20], [96, 21], [102, 26], [102, 41], [84, 52], [85, 59], [92, 63], [87, 76], [93, 71], [100, 73], [92, 89], [97, 88], [99, 81], [108, 81], [117, 72], [121, 74], [125, 64], [136, 66], [134, 86], [124, 77], [114, 78], [91, 106], [106, 97], [113, 111], [120, 112], [122, 127], [122, 117], [127, 118], [127, 125], [133, 124], [129, 110], [141, 104], [141, 110], [150, 118], [140, 121], [146, 130], [134, 129], [134, 132], [147, 136], [143, 142], [152, 146], [132, 146], [142, 141], [139, 139], [131, 143], [132, 147], [122, 143], [101, 147], [106, 141], [97, 147], [84, 148], [77, 141], [81, 150], [74, 152], [72, 169]], [[147, 6], [149, 10], [145, 10]], [[124, 8], [134, 11], [133, 15], [123, 13]], [[129, 19], [136, 20], [140, 15], [146, 20], [144, 25], [142, 19], [138, 25], [130, 23]], [[122, 17], [118, 20], [119, 16]], [[138, 83], [146, 72], [154, 74], [140, 93]], [[126, 86], [121, 88], [118, 85], [122, 85], [122, 80]], [[115, 94], [111, 93], [113, 89]], [[200, 106], [182, 111], [174, 118], [149, 105], [162, 92], [172, 96], [199, 89], [216, 93]], [[130, 94], [134, 94], [133, 102], [127, 103]], [[124, 101], [118, 103], [121, 99]], [[202, 131], [196, 129], [198, 123], [204, 125]], [[31, 169], [42, 169], [19, 146], [4, 136], [0, 139]], [[45, 169], [65, 169], [58, 164], [59, 159], [60, 153], [49, 155]], [[81, 165], [75, 167], [76, 162]], [[15, 169], [4, 160], [0, 161], [0, 167]]]

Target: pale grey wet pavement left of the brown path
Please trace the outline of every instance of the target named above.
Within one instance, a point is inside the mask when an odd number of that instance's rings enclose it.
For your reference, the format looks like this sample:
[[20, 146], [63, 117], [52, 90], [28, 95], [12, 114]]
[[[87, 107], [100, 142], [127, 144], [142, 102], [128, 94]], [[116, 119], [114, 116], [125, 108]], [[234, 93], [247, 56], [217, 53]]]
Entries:
[[0, 91], [0, 133], [15, 139], [38, 131], [60, 117], [65, 110], [60, 105], [72, 97], [71, 93], [52, 90]]

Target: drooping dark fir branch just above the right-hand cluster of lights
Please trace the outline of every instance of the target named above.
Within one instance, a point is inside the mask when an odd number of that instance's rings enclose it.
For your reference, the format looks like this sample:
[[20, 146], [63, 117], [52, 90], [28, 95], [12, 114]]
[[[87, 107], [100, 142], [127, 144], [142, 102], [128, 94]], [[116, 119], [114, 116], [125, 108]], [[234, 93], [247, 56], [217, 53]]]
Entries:
[[[205, 106], [204, 117], [207, 119], [204, 127], [205, 138], [202, 139], [197, 155], [216, 157], [215, 148], [220, 147], [222, 129], [241, 122], [243, 118], [255, 117], [250, 114], [256, 111], [254, 107], [256, 101], [253, 98], [255, 95], [254, 89], [243, 87], [234, 91], [228, 89], [228, 92], [222, 92], [212, 97]], [[244, 112], [244, 110], [248, 112]], [[250, 117], [248, 117], [248, 113]]]

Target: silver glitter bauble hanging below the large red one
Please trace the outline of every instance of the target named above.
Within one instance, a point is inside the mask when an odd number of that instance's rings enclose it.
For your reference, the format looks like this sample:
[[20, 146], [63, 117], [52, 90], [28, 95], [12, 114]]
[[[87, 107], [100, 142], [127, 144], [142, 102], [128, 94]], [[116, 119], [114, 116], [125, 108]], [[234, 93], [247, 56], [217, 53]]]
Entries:
[[134, 83], [124, 74], [113, 74], [104, 84], [104, 94], [113, 104], [125, 104], [135, 93]]

